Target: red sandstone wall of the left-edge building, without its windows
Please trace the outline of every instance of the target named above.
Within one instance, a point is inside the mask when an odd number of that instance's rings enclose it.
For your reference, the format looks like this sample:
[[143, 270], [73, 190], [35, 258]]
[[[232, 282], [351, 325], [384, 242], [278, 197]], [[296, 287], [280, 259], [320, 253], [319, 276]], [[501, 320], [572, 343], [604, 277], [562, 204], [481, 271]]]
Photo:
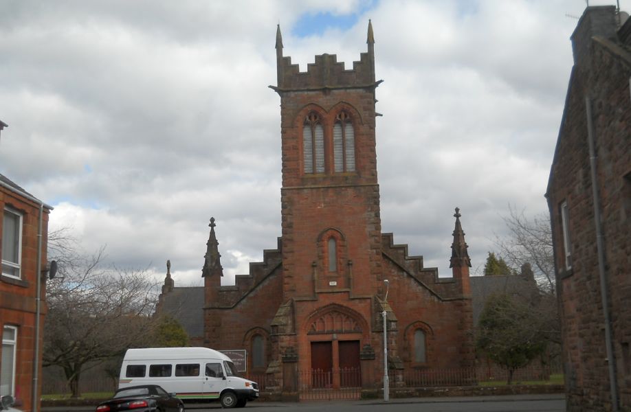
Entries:
[[[22, 220], [22, 256], [21, 279], [0, 275], [0, 326], [12, 325], [18, 328], [16, 345], [16, 402], [23, 411], [32, 411], [33, 359], [36, 317], [36, 266], [38, 247], [39, 206], [25, 198], [0, 187], [0, 214], [4, 207], [10, 206], [23, 214]], [[41, 267], [47, 262], [46, 239], [48, 227], [48, 211], [43, 213], [43, 244]], [[0, 233], [2, 219], [0, 218]], [[1, 242], [1, 238], [0, 238]], [[1, 250], [1, 249], [0, 249]], [[45, 297], [45, 277], [42, 279], [41, 294]], [[45, 301], [41, 306], [40, 336], [43, 336]], [[0, 328], [0, 333], [2, 328]], [[40, 339], [39, 365], [41, 365], [42, 339]], [[0, 347], [1, 351], [1, 347]], [[41, 367], [39, 371], [41, 376]], [[39, 393], [38, 389], [38, 393]]]

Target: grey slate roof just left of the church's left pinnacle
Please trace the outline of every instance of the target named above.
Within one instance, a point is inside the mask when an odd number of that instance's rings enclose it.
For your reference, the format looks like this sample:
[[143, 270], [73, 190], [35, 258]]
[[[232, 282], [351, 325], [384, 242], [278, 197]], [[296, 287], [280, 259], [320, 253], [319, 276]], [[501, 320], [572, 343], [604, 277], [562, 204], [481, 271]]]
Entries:
[[162, 311], [177, 319], [190, 338], [203, 336], [203, 286], [173, 288], [162, 295]]

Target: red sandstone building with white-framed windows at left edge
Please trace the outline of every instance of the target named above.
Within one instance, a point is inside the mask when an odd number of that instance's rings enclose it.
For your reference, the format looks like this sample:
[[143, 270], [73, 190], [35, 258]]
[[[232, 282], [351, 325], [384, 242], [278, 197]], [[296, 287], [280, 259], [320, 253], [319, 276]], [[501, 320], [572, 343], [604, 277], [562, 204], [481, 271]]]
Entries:
[[[6, 126], [0, 122], [0, 130]], [[41, 376], [46, 308], [37, 294], [45, 296], [46, 239], [51, 210], [52, 207], [0, 174], [0, 396], [13, 396], [22, 411], [34, 410], [33, 400], [38, 402], [41, 392], [41, 385], [34, 387], [34, 382], [41, 382], [37, 376]], [[37, 376], [35, 358], [39, 361]]]

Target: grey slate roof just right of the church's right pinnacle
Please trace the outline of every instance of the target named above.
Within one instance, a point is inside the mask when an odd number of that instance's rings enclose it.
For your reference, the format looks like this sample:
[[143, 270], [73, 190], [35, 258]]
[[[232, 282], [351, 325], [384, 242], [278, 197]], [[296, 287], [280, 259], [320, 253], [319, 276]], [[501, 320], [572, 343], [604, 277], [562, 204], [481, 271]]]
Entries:
[[478, 318], [484, 308], [488, 297], [493, 293], [509, 293], [530, 295], [537, 292], [537, 284], [534, 279], [528, 279], [522, 275], [496, 275], [496, 276], [472, 276], [471, 297], [473, 306], [474, 326], [478, 324]]

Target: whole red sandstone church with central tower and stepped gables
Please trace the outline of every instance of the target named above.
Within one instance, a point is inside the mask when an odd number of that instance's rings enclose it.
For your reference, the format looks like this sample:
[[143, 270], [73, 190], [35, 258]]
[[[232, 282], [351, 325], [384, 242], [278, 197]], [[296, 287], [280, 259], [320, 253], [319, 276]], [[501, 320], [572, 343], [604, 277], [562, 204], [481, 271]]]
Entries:
[[278, 249], [265, 251], [234, 286], [221, 286], [211, 219], [203, 288], [174, 288], [170, 273], [162, 288], [161, 310], [175, 314], [193, 345], [245, 350], [245, 374], [280, 391], [296, 391], [305, 379], [311, 387], [381, 388], [384, 310], [390, 385], [406, 385], [413, 371], [474, 363], [471, 264], [458, 209], [452, 277], [439, 278], [421, 256], [394, 244], [392, 233], [381, 233], [381, 80], [370, 23], [367, 43], [353, 69], [322, 54], [300, 72], [283, 56], [278, 28], [278, 84], [271, 87], [280, 95], [283, 159]]

